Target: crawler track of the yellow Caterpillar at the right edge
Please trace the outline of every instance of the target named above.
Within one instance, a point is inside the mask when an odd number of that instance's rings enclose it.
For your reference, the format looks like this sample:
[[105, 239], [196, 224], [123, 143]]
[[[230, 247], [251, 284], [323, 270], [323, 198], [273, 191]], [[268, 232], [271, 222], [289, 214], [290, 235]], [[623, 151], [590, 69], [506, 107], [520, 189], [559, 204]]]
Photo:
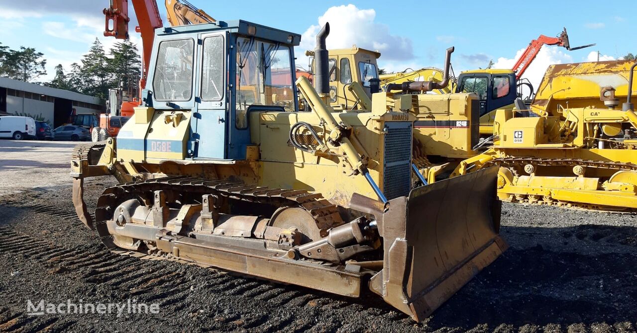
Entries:
[[[585, 160], [585, 159], [543, 159], [539, 157], [501, 157], [499, 159], [490, 160], [485, 163], [482, 167], [490, 167], [490, 166], [499, 166], [506, 167], [510, 171], [515, 174], [515, 176], [519, 176], [521, 173], [520, 169], [523, 169], [524, 166], [530, 164], [534, 167], [582, 167], [585, 168], [596, 168], [596, 169], [609, 169], [612, 171], [637, 171], [637, 164], [631, 162], [610, 162], [610, 161], [601, 161], [601, 160]], [[575, 176], [575, 174], [573, 174]], [[610, 211], [615, 213], [636, 213], [637, 209], [631, 208], [617, 208], [611, 206], [603, 206], [603, 205], [595, 205], [595, 204], [585, 204], [582, 202], [576, 201], [558, 201], [552, 197], [533, 197], [531, 195], [510, 195], [508, 199], [503, 199], [504, 201], [509, 202], [519, 202], [524, 204], [539, 204], [539, 205], [547, 205], [547, 206], [559, 206], [564, 208], [572, 208], [572, 209], [584, 209], [589, 211]]]

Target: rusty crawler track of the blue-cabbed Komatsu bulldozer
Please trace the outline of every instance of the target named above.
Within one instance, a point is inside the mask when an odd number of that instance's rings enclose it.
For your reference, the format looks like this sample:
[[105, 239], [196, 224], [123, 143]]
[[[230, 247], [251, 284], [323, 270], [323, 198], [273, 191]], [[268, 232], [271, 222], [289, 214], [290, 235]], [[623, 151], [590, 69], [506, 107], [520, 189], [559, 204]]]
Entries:
[[176, 193], [188, 193], [190, 195], [211, 194], [217, 197], [235, 199], [248, 203], [258, 203], [275, 208], [302, 208], [314, 218], [320, 235], [327, 236], [329, 229], [343, 224], [338, 212], [338, 207], [321, 194], [309, 193], [306, 190], [288, 190], [283, 188], [269, 188], [257, 185], [245, 185], [241, 181], [234, 180], [209, 180], [199, 177], [169, 176], [151, 180], [132, 181], [109, 187], [97, 200], [96, 229], [111, 252], [122, 255], [133, 255], [141, 259], [167, 259], [165, 256], [131, 252], [118, 248], [111, 239], [106, 227], [106, 220], [112, 218], [112, 213], [122, 198], [145, 197], [155, 190], [171, 190]]

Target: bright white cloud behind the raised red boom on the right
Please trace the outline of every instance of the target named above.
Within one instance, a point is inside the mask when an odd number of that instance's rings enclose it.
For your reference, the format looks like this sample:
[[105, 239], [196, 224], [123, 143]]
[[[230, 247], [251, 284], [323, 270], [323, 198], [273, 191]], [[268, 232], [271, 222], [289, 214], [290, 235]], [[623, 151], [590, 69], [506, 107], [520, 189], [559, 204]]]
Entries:
[[[517, 53], [515, 53], [515, 58], [498, 58], [496, 63], [493, 65], [493, 68], [513, 68], [517, 59], [522, 56], [526, 48], [520, 49]], [[544, 73], [547, 71], [547, 67], [553, 64], [565, 64], [573, 62], [573, 57], [562, 52], [559, 46], [543, 46], [538, 52], [537, 57], [531, 65], [527, 68], [526, 72], [522, 75], [522, 78], [527, 78], [533, 84], [535, 89], [538, 89], [540, 86], [540, 81], [544, 76]]]

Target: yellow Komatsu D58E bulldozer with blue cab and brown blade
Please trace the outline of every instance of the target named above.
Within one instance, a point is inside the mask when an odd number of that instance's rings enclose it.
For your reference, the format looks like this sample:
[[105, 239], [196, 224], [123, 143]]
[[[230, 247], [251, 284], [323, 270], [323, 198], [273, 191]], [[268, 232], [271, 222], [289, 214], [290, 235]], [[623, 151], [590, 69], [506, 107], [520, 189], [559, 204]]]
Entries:
[[[327, 34], [315, 90], [291, 84], [298, 34], [243, 20], [157, 29], [143, 106], [117, 138], [75, 150], [80, 220], [111, 252], [369, 289], [426, 318], [506, 248], [497, 168], [412, 188], [413, 115], [385, 92], [334, 111]], [[109, 174], [120, 183], [93, 219], [84, 178]]]

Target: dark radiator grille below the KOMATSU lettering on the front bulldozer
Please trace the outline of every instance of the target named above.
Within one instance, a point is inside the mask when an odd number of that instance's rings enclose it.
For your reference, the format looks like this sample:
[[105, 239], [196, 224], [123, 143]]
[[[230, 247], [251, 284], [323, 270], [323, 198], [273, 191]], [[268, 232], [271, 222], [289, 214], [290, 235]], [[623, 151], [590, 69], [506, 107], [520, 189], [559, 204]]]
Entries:
[[387, 200], [408, 195], [412, 184], [412, 123], [386, 122], [383, 194]]

